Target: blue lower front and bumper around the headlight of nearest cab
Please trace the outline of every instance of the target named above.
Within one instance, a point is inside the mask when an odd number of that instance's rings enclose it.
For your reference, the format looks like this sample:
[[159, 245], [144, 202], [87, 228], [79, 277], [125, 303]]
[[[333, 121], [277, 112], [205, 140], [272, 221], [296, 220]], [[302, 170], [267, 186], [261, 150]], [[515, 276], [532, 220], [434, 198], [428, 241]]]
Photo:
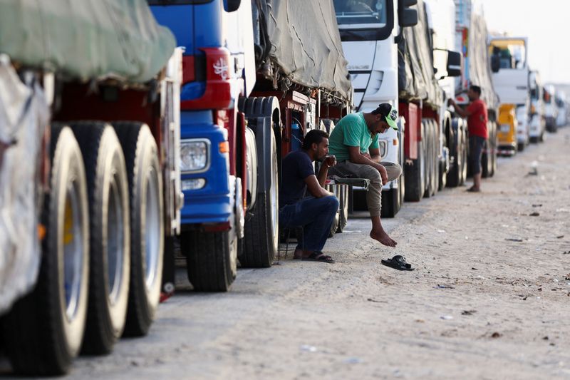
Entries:
[[[207, 170], [181, 175], [184, 207], [182, 227], [228, 222], [232, 216], [232, 192], [229, 185], [229, 155], [220, 153], [219, 143], [227, 141], [227, 130], [212, 122], [211, 111], [182, 112], [180, 137], [209, 141]], [[203, 183], [201, 187], [193, 183]]]

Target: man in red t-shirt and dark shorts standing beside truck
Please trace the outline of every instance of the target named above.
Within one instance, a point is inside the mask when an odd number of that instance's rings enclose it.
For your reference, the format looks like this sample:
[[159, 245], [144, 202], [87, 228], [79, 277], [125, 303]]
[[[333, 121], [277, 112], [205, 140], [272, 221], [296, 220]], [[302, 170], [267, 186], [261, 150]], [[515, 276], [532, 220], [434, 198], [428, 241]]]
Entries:
[[469, 192], [481, 191], [481, 155], [485, 141], [487, 141], [487, 105], [480, 99], [481, 88], [479, 86], [471, 86], [467, 90], [470, 104], [467, 108], [457, 106], [453, 99], [449, 103], [455, 107], [457, 112], [463, 118], [467, 117], [467, 128], [469, 129], [469, 158], [471, 168], [473, 170], [473, 185], [467, 189]]

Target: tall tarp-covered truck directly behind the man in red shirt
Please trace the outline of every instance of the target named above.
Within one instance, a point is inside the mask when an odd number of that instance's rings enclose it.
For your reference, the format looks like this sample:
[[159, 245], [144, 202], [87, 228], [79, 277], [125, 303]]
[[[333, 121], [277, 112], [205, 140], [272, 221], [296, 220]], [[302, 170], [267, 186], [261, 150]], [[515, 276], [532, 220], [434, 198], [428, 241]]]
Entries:
[[[455, 0], [455, 42], [464, 58], [462, 75], [455, 81], [455, 101], [467, 106], [467, 90], [472, 85], [480, 86], [481, 99], [487, 104], [489, 134], [483, 148], [482, 177], [492, 177], [497, 168], [497, 118], [499, 98], [492, 83], [492, 70], [487, 49], [487, 24], [480, 3], [473, 0]], [[467, 125], [465, 123], [465, 125]], [[467, 135], [468, 138], [468, 135]], [[469, 146], [467, 144], [467, 146]], [[469, 153], [468, 153], [469, 155]], [[467, 173], [471, 169], [467, 168]]]

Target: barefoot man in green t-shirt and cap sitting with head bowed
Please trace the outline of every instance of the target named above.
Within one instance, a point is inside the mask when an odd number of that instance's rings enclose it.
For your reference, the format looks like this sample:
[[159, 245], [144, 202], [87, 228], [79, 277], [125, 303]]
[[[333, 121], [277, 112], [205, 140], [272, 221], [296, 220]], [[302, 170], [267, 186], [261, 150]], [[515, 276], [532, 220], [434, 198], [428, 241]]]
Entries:
[[388, 128], [398, 130], [398, 111], [389, 103], [382, 103], [371, 113], [351, 113], [338, 122], [331, 133], [331, 154], [338, 164], [334, 168], [341, 177], [368, 178], [370, 188], [366, 194], [368, 211], [372, 220], [370, 237], [388, 247], [396, 242], [384, 231], [380, 221], [382, 186], [402, 174], [397, 163], [380, 163], [378, 133]]

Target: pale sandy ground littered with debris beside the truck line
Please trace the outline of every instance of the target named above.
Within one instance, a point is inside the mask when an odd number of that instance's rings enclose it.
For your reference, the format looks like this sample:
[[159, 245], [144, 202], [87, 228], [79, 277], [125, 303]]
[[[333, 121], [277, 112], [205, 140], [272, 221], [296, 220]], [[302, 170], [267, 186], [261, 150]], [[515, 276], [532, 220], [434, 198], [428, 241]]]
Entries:
[[[334, 265], [289, 252], [227, 294], [181, 286], [148, 337], [69, 378], [569, 379], [569, 151], [563, 128], [500, 159], [480, 194], [407, 203], [384, 221], [395, 250], [363, 214], [328, 240]], [[396, 254], [416, 270], [380, 265]]]

